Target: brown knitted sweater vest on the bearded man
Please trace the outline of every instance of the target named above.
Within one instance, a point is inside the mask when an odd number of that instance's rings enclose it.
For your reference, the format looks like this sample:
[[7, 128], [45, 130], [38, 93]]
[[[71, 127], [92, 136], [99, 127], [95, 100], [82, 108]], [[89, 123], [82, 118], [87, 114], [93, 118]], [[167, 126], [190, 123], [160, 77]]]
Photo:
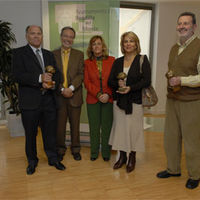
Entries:
[[[178, 55], [178, 44], [175, 44], [169, 55], [168, 67], [174, 76], [197, 75], [197, 64], [200, 56], [200, 39], [195, 38], [181, 54]], [[177, 92], [168, 88], [168, 98], [181, 101], [194, 101], [200, 99], [200, 87], [192, 88], [181, 86]]]

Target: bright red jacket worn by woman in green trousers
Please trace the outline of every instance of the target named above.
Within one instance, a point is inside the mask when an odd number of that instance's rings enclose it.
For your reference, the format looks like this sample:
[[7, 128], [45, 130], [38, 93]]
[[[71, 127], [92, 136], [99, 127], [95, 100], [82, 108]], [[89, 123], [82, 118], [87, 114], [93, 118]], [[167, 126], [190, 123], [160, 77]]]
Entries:
[[[103, 59], [102, 64], [102, 89], [103, 93], [109, 94], [109, 102], [112, 102], [112, 91], [108, 87], [108, 78], [115, 58], [108, 56]], [[98, 102], [97, 93], [100, 92], [99, 70], [97, 69], [96, 60], [85, 60], [84, 66], [84, 84], [87, 90], [86, 101], [88, 104], [95, 104]]]

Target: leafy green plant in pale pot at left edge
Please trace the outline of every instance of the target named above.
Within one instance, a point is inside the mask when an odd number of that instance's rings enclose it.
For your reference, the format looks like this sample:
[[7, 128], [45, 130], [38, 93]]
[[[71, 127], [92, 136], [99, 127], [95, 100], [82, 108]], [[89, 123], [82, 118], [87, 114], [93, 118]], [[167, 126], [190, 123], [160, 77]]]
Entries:
[[[12, 43], [16, 42], [15, 35], [12, 33], [9, 22], [4, 22], [0, 20], [0, 91], [5, 99], [4, 103], [8, 105], [7, 109], [9, 114], [8, 128], [10, 130], [11, 136], [13, 136], [13, 131], [16, 133], [17, 129], [20, 127], [20, 134], [23, 131], [21, 119], [19, 116], [20, 110], [18, 107], [18, 87], [12, 77]], [[14, 124], [18, 124], [16, 128]], [[15, 135], [14, 133], [14, 135]], [[24, 133], [22, 133], [24, 134]]]

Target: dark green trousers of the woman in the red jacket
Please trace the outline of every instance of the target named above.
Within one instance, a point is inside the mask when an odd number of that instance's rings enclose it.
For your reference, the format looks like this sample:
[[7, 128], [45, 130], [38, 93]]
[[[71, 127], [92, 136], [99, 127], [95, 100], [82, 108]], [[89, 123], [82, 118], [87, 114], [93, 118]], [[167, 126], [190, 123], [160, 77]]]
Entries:
[[110, 158], [110, 145], [108, 140], [112, 128], [112, 103], [87, 104], [87, 113], [90, 128], [91, 157], [97, 158], [100, 144], [103, 158]]

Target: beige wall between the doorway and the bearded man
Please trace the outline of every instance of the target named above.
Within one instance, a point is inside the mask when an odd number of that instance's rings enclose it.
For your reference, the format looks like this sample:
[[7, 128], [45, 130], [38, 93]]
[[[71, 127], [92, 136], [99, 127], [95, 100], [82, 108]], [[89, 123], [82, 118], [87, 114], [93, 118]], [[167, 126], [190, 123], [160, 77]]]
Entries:
[[157, 37], [154, 48], [153, 72], [156, 73], [154, 79], [155, 89], [158, 93], [159, 103], [152, 108], [154, 113], [164, 113], [166, 102], [166, 86], [167, 81], [165, 73], [167, 72], [167, 63], [170, 48], [177, 41], [176, 22], [180, 13], [191, 11], [196, 14], [197, 19], [197, 35], [200, 33], [200, 1], [199, 2], [162, 2], [157, 4]]

